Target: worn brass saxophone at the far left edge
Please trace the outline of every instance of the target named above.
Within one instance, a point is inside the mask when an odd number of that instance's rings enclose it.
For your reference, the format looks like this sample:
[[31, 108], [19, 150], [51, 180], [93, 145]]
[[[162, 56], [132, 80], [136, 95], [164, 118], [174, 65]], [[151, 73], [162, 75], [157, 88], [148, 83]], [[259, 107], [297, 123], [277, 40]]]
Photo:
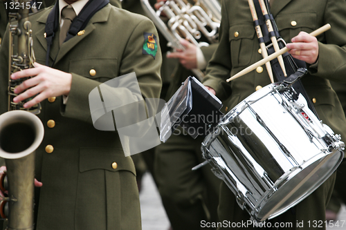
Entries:
[[8, 191], [1, 201], [1, 217], [6, 218], [6, 229], [34, 229], [35, 150], [44, 137], [44, 126], [35, 115], [41, 105], [24, 108], [15, 103], [15, 87], [26, 79], [10, 79], [20, 70], [33, 68], [35, 55], [31, 23], [28, 20], [30, 1], [20, 0], [18, 12], [9, 12], [8, 112], [0, 115], [0, 157], [5, 158], [6, 172], [1, 177], [0, 189]]

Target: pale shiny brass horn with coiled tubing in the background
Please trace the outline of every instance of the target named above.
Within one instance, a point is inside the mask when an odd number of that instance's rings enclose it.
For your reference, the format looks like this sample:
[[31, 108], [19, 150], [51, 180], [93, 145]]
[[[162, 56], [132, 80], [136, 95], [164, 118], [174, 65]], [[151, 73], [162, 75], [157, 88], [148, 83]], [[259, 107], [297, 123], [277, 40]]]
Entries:
[[[161, 8], [155, 11], [148, 0], [140, 0], [148, 17], [152, 19], [156, 28], [160, 30], [168, 44], [174, 49], [184, 50], [179, 39], [188, 39], [196, 46], [209, 46], [217, 43], [221, 21], [221, 6], [217, 0], [187, 0], [165, 1]], [[167, 17], [163, 21], [161, 13]], [[202, 41], [205, 38], [208, 42]], [[195, 77], [202, 79], [201, 70], [193, 69]]]

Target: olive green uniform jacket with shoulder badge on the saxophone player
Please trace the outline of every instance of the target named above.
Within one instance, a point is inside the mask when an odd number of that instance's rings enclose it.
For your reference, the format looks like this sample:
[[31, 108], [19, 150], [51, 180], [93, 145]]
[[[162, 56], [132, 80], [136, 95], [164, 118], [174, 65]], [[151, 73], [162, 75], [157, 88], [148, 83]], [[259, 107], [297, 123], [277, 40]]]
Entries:
[[[51, 8], [30, 17], [37, 62], [45, 63], [44, 28]], [[109, 79], [135, 72], [145, 98], [160, 95], [161, 50], [156, 57], [143, 55], [143, 32], [156, 35], [146, 17], [107, 5], [91, 17], [84, 34], [75, 36], [59, 49], [55, 35], [50, 55], [53, 68], [72, 73], [66, 105], [62, 97], [42, 102], [39, 118], [45, 127], [44, 140], [36, 151], [37, 229], [141, 229], [138, 190], [131, 157], [125, 157], [116, 131], [98, 131], [89, 111], [89, 93]], [[157, 41], [158, 42], [158, 41]], [[0, 55], [0, 111], [7, 110], [8, 39]], [[91, 76], [89, 71], [95, 70]], [[113, 90], [113, 89], [110, 89]], [[117, 88], [116, 100], [132, 97]], [[51, 100], [52, 101], [52, 100]], [[136, 113], [136, 111], [134, 111]], [[48, 128], [53, 119], [55, 127]], [[46, 153], [51, 144], [53, 153]], [[112, 163], [117, 167], [113, 169]]]

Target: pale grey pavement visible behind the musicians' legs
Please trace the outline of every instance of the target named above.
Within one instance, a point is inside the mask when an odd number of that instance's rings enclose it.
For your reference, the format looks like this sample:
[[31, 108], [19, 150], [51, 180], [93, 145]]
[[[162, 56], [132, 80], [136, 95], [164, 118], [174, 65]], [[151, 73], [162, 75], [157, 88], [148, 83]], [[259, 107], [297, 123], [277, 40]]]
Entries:
[[[163, 209], [160, 196], [149, 173], [145, 173], [140, 192], [140, 209], [142, 211], [143, 230], [167, 230], [170, 227]], [[313, 224], [313, 223], [311, 223]], [[318, 226], [318, 223], [316, 223]], [[321, 224], [321, 223], [320, 223]], [[338, 226], [336, 226], [338, 224]], [[331, 227], [334, 225], [334, 227]], [[316, 227], [316, 229], [319, 229]], [[327, 224], [327, 230], [346, 230], [346, 208], [342, 208], [338, 221]]]

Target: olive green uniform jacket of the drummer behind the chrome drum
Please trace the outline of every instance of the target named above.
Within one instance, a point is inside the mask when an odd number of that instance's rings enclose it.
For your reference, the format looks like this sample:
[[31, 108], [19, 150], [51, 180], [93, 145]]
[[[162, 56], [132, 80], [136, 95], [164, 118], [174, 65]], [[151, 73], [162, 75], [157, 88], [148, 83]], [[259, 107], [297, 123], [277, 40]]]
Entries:
[[[318, 36], [318, 63], [308, 65], [309, 74], [302, 78], [302, 83], [309, 99], [316, 99], [314, 105], [322, 122], [345, 140], [345, 115], [328, 79], [338, 82], [346, 81], [346, 2], [344, 0], [276, 0], [273, 2], [271, 12], [275, 17], [280, 35], [286, 42], [291, 41], [291, 38], [298, 35], [300, 31], [312, 32], [325, 23], [331, 24], [331, 30]], [[295, 21], [296, 24], [291, 21]], [[229, 108], [233, 108], [248, 95], [254, 93], [257, 86], [270, 84], [266, 70], [262, 73], [252, 71], [226, 83], [226, 79], [262, 59], [260, 53], [257, 52], [259, 48], [248, 1], [224, 1], [219, 47], [208, 64], [207, 76], [203, 84], [214, 88], [220, 99], [231, 95]], [[295, 220], [324, 220], [325, 202], [329, 198], [332, 185], [333, 182], [327, 180], [325, 185], [298, 204], [295, 214], [286, 220], [294, 222]], [[290, 213], [292, 212], [287, 211], [282, 216], [291, 215]], [[237, 207], [233, 193], [223, 183], [219, 206], [221, 221], [237, 222], [242, 219], [248, 220], [248, 217], [245, 211], [242, 212]], [[304, 227], [307, 227], [307, 224]]]

